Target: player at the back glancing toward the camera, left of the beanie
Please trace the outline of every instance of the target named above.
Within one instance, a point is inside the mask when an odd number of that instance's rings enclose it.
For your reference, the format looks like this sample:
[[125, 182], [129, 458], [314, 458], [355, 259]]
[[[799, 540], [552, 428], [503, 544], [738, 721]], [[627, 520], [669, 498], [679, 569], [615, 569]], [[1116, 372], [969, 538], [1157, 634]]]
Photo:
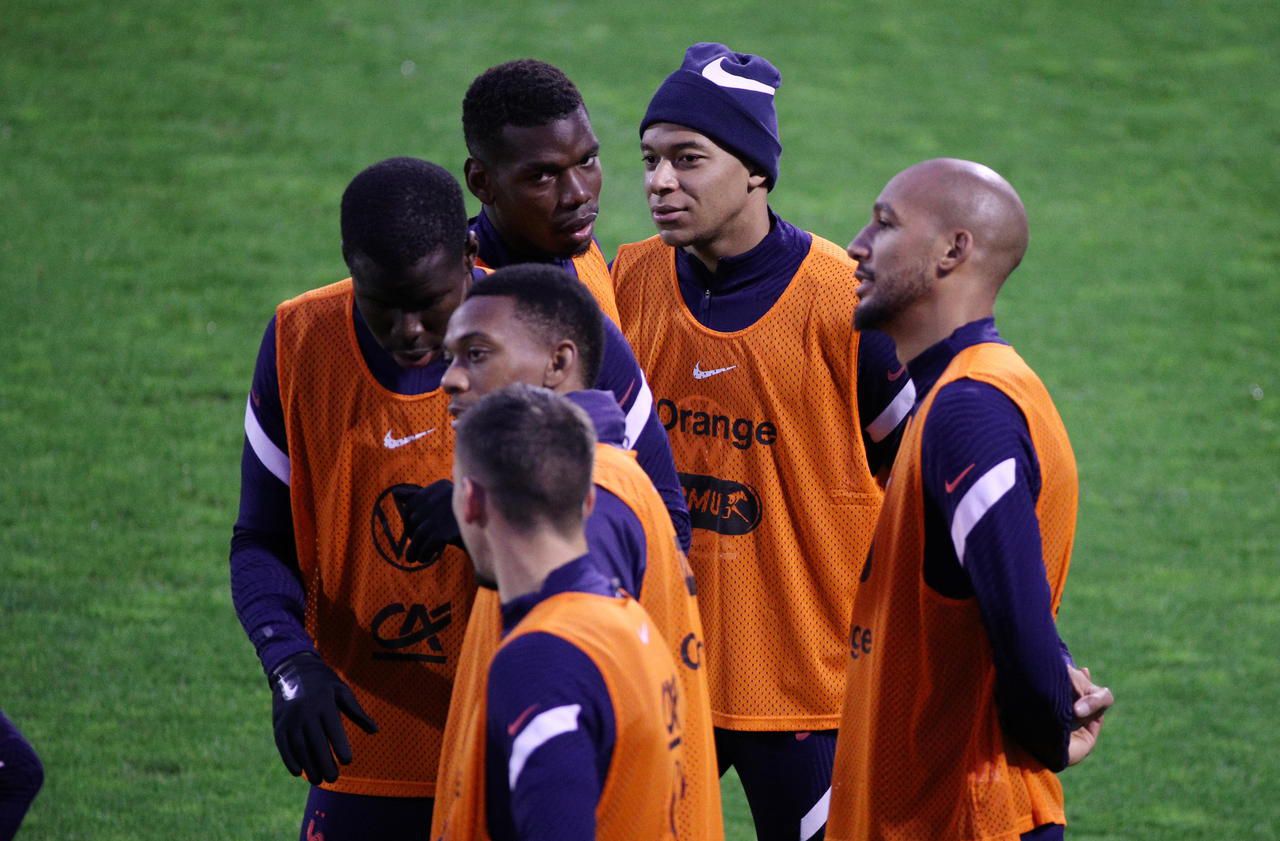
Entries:
[[557, 265], [591, 291], [609, 321], [604, 369], [596, 388], [611, 390], [626, 412], [626, 437], [689, 548], [689, 512], [671, 461], [671, 445], [653, 393], [617, 329], [609, 268], [595, 242], [600, 206], [600, 143], [577, 87], [559, 69], [525, 59], [490, 68], [462, 101], [466, 183], [483, 204], [471, 220], [479, 265]]

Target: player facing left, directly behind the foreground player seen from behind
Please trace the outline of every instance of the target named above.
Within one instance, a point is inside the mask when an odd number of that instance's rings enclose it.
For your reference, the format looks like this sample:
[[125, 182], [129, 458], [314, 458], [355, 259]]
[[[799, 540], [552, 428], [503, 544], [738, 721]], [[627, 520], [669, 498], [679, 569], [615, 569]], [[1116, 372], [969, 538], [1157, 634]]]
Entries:
[[[456, 417], [486, 394], [525, 383], [563, 394], [591, 419], [598, 442], [595, 507], [585, 526], [591, 561], [639, 599], [672, 646], [684, 726], [676, 823], [681, 838], [714, 841], [723, 837], [723, 826], [695, 588], [662, 498], [634, 454], [621, 448], [622, 410], [608, 392], [585, 390], [600, 365], [602, 320], [588, 289], [563, 270], [538, 264], [499, 269], [474, 285], [449, 319], [444, 351], [452, 362], [442, 385]], [[481, 588], [445, 725], [433, 838], [483, 837], [472, 795], [483, 759], [477, 703], [500, 627], [498, 597]]]

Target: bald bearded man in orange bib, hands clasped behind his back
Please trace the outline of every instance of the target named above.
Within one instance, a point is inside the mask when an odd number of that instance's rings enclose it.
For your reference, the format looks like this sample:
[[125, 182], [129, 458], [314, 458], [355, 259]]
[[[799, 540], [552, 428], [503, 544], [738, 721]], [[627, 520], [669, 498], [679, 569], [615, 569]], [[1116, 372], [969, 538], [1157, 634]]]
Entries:
[[1110, 704], [1073, 704], [1055, 627], [1071, 445], [992, 317], [1027, 237], [1004, 178], [941, 159], [849, 247], [855, 324], [893, 339], [916, 402], [854, 599], [828, 840], [1061, 838], [1056, 772]]

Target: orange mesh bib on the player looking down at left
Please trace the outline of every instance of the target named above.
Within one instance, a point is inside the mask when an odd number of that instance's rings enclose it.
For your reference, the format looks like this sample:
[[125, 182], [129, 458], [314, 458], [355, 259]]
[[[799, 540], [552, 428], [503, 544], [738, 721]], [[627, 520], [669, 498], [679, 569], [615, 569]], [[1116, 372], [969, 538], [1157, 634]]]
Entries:
[[360, 353], [352, 310], [349, 280], [276, 308], [306, 627], [379, 726], [371, 736], [347, 726], [353, 762], [324, 787], [431, 796], [475, 580], [452, 547], [430, 563], [404, 559], [397, 498], [449, 477], [448, 396], [384, 389]]

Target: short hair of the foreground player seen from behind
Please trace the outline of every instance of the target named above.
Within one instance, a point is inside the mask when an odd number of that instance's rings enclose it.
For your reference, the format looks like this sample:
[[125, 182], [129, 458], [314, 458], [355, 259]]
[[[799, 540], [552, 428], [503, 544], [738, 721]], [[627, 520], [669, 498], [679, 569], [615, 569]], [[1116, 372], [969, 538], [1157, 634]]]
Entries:
[[456, 433], [463, 475], [484, 486], [512, 526], [581, 527], [595, 458], [586, 412], [545, 388], [517, 383], [476, 402]]

